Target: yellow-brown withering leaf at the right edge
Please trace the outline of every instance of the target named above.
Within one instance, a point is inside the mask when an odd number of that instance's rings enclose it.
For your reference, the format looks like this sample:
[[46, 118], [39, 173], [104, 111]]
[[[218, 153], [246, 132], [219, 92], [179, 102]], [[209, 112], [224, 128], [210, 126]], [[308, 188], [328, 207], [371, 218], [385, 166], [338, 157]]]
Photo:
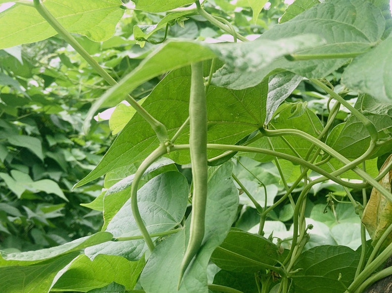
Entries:
[[[386, 166], [392, 161], [392, 155], [388, 157], [384, 165], [381, 167], [382, 172]], [[386, 189], [391, 191], [391, 179], [392, 170], [390, 170], [383, 179], [380, 180], [380, 184]], [[362, 214], [362, 223], [365, 225], [370, 237], [372, 238], [374, 245], [380, 237], [384, 234], [385, 230], [392, 224], [392, 202], [388, 200], [384, 195], [378, 192], [377, 189], [373, 188], [370, 195], [369, 202]], [[392, 234], [390, 234], [383, 246], [387, 246], [392, 242]]]

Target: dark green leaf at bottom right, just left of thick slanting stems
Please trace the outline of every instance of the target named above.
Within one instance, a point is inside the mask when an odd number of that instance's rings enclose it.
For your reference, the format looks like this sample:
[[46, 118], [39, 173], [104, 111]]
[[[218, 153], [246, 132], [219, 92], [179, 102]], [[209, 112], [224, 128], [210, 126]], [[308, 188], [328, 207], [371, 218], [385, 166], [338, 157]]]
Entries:
[[300, 255], [292, 276], [297, 293], [344, 292], [353, 282], [359, 254], [349, 247], [322, 245]]

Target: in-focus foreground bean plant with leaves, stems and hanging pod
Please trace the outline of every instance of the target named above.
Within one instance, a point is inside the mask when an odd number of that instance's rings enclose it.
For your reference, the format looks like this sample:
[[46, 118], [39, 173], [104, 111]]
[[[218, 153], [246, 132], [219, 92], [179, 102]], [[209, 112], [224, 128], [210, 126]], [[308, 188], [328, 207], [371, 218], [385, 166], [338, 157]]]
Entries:
[[[101, 231], [1, 252], [0, 291], [359, 293], [390, 276], [389, 2], [296, 0], [256, 38], [222, 7], [249, 7], [256, 24], [266, 1], [123, 2], [19, 0], [0, 14], [1, 48], [58, 34], [110, 86], [91, 105], [85, 132], [97, 111], [120, 111], [122, 100], [134, 109], [74, 186], [105, 175], [87, 205], [102, 212]], [[74, 34], [105, 41], [128, 9], [160, 20], [133, 27], [134, 42], [151, 50], [117, 80]], [[195, 22], [226, 41], [171, 36]], [[147, 98], [132, 98], [156, 77]], [[322, 112], [310, 106], [315, 99]], [[278, 196], [266, 168], [284, 187]], [[338, 207], [356, 213], [357, 225], [340, 232], [357, 229], [356, 250], [317, 242], [323, 227], [309, 209], [328, 184], [340, 192], [327, 194], [325, 211], [337, 221]]]

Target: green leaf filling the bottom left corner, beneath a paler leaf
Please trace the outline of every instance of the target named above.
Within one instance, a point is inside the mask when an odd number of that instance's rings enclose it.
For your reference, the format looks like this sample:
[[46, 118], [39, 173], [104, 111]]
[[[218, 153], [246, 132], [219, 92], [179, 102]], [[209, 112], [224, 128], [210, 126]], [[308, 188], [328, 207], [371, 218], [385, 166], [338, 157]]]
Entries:
[[49, 292], [57, 272], [78, 256], [78, 252], [53, 257], [50, 260], [28, 266], [0, 267], [0, 291], [15, 292]]

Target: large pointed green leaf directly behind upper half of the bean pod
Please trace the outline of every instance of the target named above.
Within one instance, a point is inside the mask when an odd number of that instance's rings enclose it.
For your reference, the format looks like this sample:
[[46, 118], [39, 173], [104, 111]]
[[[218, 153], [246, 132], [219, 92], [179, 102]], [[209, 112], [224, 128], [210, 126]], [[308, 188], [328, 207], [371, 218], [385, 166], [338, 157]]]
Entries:
[[[188, 118], [191, 72], [188, 67], [169, 73], [143, 103], [149, 111], [173, 135]], [[241, 91], [211, 86], [207, 93], [208, 142], [235, 143], [265, 120], [266, 89], [263, 85]], [[162, 97], [165, 102], [162, 103]], [[178, 137], [176, 143], [189, 143], [189, 128]], [[145, 159], [159, 142], [150, 125], [140, 115], [134, 115], [118, 134], [98, 166], [76, 186], [99, 178], [110, 170]], [[209, 157], [219, 152], [209, 152]], [[189, 163], [189, 152], [170, 154], [176, 163]]]

